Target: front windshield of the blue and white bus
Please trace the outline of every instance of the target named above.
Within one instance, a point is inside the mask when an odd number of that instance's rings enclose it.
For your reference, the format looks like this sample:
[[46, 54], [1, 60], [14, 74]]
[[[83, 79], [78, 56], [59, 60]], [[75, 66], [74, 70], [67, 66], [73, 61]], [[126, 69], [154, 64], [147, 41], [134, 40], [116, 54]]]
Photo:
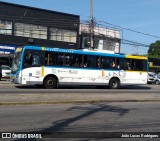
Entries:
[[15, 52], [15, 55], [14, 55], [14, 58], [13, 58], [13, 62], [12, 62], [11, 73], [16, 73], [19, 70], [21, 54], [22, 54], [22, 51]]

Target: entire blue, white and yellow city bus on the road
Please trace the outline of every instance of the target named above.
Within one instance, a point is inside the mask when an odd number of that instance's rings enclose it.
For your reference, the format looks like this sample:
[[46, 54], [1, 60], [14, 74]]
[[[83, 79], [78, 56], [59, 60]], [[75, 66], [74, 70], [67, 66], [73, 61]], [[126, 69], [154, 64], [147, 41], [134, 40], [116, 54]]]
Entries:
[[147, 57], [113, 54], [97, 50], [73, 50], [40, 46], [16, 49], [11, 81], [43, 85], [109, 86], [147, 84]]

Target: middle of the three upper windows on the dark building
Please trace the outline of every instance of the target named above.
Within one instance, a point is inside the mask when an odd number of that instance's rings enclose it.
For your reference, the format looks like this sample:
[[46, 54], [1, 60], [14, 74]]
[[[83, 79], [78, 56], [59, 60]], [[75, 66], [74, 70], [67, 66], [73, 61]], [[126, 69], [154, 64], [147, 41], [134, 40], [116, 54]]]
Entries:
[[47, 27], [44, 26], [15, 23], [14, 29], [15, 36], [47, 39]]

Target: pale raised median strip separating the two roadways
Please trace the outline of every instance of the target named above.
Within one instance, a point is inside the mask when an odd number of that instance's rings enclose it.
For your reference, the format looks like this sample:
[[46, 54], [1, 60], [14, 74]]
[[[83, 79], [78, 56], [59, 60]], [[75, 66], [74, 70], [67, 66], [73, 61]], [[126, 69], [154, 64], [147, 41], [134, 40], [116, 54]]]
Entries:
[[[160, 101], [157, 93], [122, 93], [106, 91], [102, 93], [20, 93], [11, 92], [15, 84], [1, 81], [0, 87], [8, 87], [8, 93], [0, 93], [0, 105], [25, 105], [25, 104], [58, 104], [58, 103], [97, 103], [97, 102], [146, 102]], [[10, 89], [9, 89], [10, 88]], [[7, 91], [7, 90], [6, 90]]]

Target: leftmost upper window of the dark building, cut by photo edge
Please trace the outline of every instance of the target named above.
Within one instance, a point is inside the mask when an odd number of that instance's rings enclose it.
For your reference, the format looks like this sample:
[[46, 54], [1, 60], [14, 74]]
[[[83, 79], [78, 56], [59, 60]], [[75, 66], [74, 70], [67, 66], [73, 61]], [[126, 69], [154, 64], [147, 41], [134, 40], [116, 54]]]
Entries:
[[0, 20], [0, 34], [12, 35], [12, 22]]

